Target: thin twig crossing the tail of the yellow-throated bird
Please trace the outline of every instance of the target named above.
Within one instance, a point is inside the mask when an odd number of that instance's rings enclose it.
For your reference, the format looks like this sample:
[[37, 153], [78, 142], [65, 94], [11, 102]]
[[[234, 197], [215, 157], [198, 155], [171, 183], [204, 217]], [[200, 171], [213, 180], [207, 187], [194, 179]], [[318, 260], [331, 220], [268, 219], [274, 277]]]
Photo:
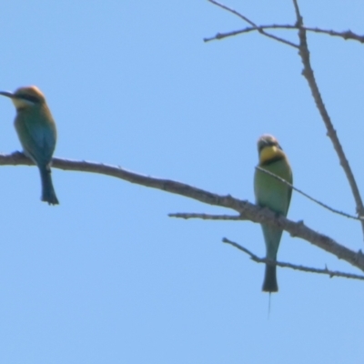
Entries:
[[282, 267], [282, 268], [291, 268], [291, 269], [300, 270], [300, 271], [309, 272], [309, 273], [326, 274], [329, 276], [329, 278], [341, 277], [341, 278], [364, 280], [364, 276], [360, 276], [359, 274], [345, 273], [345, 272], [340, 272], [338, 270], [329, 270], [327, 267], [325, 269], [309, 268], [306, 266], [298, 266], [296, 264], [279, 262], [279, 261], [271, 260], [268, 258], [258, 258], [258, 256], [256, 256], [250, 250], [248, 250], [245, 247], [242, 247], [241, 245], [239, 245], [238, 243], [235, 243], [234, 241], [229, 240], [228, 238], [223, 238], [222, 241], [224, 243], [230, 244], [233, 247], [238, 248], [239, 250], [248, 254], [248, 256], [257, 263], [270, 263], [270, 264], [273, 264], [273, 265], [276, 265], [276, 266]]

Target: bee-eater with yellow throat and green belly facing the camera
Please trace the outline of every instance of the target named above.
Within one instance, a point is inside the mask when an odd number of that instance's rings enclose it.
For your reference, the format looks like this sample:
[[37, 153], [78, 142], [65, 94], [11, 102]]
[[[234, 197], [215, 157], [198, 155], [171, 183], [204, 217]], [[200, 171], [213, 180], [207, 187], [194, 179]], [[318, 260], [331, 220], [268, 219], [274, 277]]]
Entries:
[[[288, 158], [274, 136], [264, 135], [258, 139], [258, 167], [266, 169], [292, 185], [293, 177]], [[254, 176], [254, 192], [256, 203], [261, 207], [268, 207], [278, 214], [287, 216], [292, 189], [277, 178], [256, 169]], [[262, 224], [264, 240], [266, 243], [266, 257], [277, 260], [277, 252], [283, 230], [278, 227], [268, 227]], [[277, 266], [266, 264], [262, 290], [264, 292], [277, 292]]]

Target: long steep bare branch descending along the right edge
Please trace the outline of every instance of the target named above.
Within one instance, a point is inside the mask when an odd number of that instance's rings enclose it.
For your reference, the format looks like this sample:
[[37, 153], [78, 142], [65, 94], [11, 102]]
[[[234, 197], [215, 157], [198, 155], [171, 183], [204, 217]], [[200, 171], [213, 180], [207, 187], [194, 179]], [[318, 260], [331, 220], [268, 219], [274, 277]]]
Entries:
[[[337, 132], [336, 132], [334, 126], [332, 125], [331, 119], [329, 117], [329, 113], [322, 100], [321, 94], [319, 92], [319, 86], [316, 83], [316, 78], [314, 76], [314, 72], [313, 72], [313, 69], [312, 69], [311, 63], [310, 63], [306, 30], [302, 27], [303, 18], [299, 12], [298, 1], [293, 0], [293, 4], [295, 6], [295, 12], [296, 12], [296, 17], [297, 17], [297, 26], [299, 28], [299, 30], [298, 30], [298, 38], [299, 38], [298, 54], [301, 57], [302, 64], [303, 64], [302, 75], [308, 81], [308, 86], [311, 89], [311, 93], [315, 100], [316, 106], [319, 109], [319, 114], [321, 115], [321, 118], [328, 130], [327, 135], [329, 136], [329, 138], [332, 142], [332, 145], [334, 146], [334, 149], [339, 157], [340, 165], [344, 169], [345, 175], [348, 178], [349, 186], [351, 187], [351, 192], [353, 194], [355, 203], [357, 205], [357, 208], [356, 208], [357, 213], [358, 213], [359, 217], [362, 217], [362, 216], [364, 216], [364, 206], [363, 206], [363, 201], [360, 196], [359, 188], [358, 188], [357, 182], [355, 180], [355, 177], [352, 173], [352, 170], [349, 166], [349, 161], [348, 161], [347, 157], [345, 156], [344, 150], [339, 142], [339, 137], [337, 135]], [[362, 227], [362, 230], [364, 233], [364, 220], [361, 220], [361, 227]]]

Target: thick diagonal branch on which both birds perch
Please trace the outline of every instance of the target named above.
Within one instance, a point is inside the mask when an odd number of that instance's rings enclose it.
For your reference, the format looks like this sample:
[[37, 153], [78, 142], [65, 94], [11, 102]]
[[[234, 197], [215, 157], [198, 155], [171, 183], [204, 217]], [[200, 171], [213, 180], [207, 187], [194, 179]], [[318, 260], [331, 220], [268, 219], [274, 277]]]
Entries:
[[[238, 198], [231, 197], [230, 195], [220, 196], [201, 188], [192, 187], [170, 179], [138, 175], [121, 167], [61, 158], [54, 158], [52, 163], [53, 167], [56, 168], [116, 177], [130, 183], [136, 183], [137, 185], [153, 187], [179, 196], [193, 198], [208, 205], [233, 209], [238, 211], [242, 219], [247, 219], [259, 224], [266, 224], [270, 227], [280, 227], [283, 230], [288, 231], [292, 237], [307, 240], [311, 244], [328, 251], [339, 259], [343, 259], [352, 266], [364, 271], [364, 255], [361, 250], [356, 253], [353, 250], [340, 245], [334, 239], [306, 227], [303, 221], [294, 222], [288, 220], [288, 218], [278, 216], [268, 208], [258, 207], [248, 201], [242, 201]], [[25, 157], [23, 153], [15, 152], [8, 156], [0, 155], [0, 166], [34, 166], [34, 163], [29, 158]]]

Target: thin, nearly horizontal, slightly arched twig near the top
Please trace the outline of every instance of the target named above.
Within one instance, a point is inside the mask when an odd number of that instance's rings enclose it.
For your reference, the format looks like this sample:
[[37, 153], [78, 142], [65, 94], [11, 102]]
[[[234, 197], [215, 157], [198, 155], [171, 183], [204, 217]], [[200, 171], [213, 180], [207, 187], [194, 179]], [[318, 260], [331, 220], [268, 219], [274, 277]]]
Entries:
[[[356, 40], [360, 43], [364, 43], [364, 35], [357, 35], [357, 34], [351, 32], [350, 30], [343, 31], [343, 32], [337, 32], [335, 30], [320, 29], [318, 27], [314, 28], [314, 27], [302, 26], [302, 28], [305, 29], [307, 32], [337, 36], [344, 40]], [[259, 32], [260, 33], [261, 30], [266, 30], [266, 29], [297, 30], [298, 26], [297, 25], [275, 25], [275, 24], [248, 26], [244, 29], [233, 30], [233, 31], [227, 32], [227, 33], [217, 33], [217, 35], [214, 35], [214, 36], [211, 36], [208, 38], [204, 38], [204, 42], [210, 42], [212, 40], [220, 40], [220, 39], [227, 38], [229, 36], [241, 35], [241, 34], [250, 33], [250, 32]], [[295, 47], [299, 48], [299, 45], [296, 45], [293, 43], [292, 43], [292, 45], [295, 45]]]

